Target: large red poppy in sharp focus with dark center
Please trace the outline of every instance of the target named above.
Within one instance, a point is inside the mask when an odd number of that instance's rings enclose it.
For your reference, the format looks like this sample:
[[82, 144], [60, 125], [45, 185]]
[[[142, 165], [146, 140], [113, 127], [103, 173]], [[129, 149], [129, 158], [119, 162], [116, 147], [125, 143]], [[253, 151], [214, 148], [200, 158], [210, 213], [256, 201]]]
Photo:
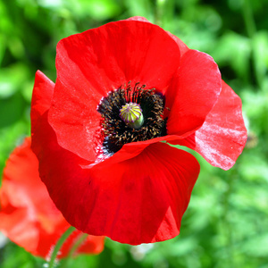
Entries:
[[37, 72], [32, 148], [71, 225], [122, 243], [180, 232], [199, 164], [229, 169], [247, 138], [241, 102], [211, 56], [144, 18], [61, 40], [55, 84]]

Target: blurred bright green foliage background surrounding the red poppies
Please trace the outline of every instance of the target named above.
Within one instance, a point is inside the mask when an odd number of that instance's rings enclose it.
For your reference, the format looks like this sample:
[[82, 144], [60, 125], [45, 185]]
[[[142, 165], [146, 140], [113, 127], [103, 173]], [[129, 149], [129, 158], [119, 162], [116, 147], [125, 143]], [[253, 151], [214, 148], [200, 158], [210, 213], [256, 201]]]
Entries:
[[[80, 255], [70, 267], [267, 268], [267, 0], [1, 0], [1, 172], [13, 148], [29, 136], [35, 72], [55, 80], [57, 42], [137, 15], [214, 57], [222, 78], [242, 98], [247, 146], [228, 172], [197, 155], [201, 174], [180, 236], [138, 247], [106, 239], [101, 255]], [[0, 240], [1, 268], [44, 264], [9, 240]]]

